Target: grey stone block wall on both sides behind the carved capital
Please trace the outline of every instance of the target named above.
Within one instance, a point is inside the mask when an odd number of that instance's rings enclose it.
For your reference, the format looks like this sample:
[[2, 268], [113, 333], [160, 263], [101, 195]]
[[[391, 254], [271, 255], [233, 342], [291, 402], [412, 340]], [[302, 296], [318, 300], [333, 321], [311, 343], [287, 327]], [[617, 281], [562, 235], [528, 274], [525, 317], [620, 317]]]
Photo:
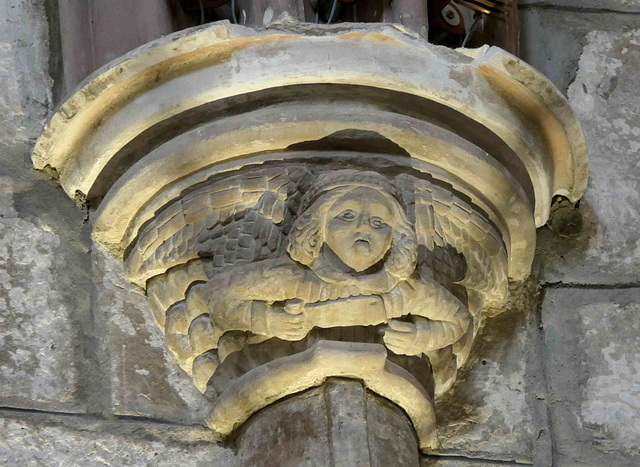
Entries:
[[[423, 463], [637, 465], [640, 2], [520, 4], [523, 58], [587, 136], [587, 194], [555, 214], [581, 228], [539, 231], [536, 280], [487, 321]], [[0, 465], [243, 465], [246, 440], [237, 453], [202, 427], [203, 397], [91, 244], [90, 213], [31, 168], [71, 63], [55, 11], [0, 0]]]

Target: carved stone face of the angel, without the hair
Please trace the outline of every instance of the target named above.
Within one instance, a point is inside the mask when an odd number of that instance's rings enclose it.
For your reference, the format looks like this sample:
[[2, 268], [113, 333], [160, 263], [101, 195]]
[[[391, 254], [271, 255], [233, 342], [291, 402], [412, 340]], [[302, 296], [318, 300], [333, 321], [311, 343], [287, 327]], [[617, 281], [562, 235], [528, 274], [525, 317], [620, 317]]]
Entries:
[[367, 187], [344, 194], [327, 213], [325, 243], [350, 268], [358, 272], [370, 268], [391, 247], [394, 202]]

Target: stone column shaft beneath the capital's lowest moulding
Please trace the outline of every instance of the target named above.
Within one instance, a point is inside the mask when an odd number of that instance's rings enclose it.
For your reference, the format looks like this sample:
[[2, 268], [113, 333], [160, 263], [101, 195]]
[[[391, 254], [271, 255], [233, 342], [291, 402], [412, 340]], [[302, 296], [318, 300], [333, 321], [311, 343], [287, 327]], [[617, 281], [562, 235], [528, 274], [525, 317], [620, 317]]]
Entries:
[[414, 467], [418, 440], [397, 406], [356, 380], [318, 388], [254, 414], [236, 438], [242, 465]]

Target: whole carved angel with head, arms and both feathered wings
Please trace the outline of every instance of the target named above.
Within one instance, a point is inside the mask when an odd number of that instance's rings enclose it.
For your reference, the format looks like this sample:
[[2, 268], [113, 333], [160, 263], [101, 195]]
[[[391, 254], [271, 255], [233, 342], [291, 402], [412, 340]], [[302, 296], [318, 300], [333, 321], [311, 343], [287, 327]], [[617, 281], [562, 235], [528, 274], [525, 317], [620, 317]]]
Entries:
[[127, 267], [203, 392], [234, 351], [313, 329], [377, 326], [393, 353], [456, 366], [477, 312], [466, 290], [500, 299], [506, 282], [502, 240], [450, 191], [317, 167], [204, 184], [139, 233]]

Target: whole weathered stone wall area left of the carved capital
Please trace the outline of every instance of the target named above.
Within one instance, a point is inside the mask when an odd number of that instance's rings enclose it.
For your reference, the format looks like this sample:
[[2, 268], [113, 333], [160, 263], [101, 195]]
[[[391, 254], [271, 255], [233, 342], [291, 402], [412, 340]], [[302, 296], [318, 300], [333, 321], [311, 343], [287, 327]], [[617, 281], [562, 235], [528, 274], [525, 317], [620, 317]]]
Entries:
[[0, 465], [233, 465], [88, 213], [32, 168], [59, 103], [51, 12], [0, 0]]

